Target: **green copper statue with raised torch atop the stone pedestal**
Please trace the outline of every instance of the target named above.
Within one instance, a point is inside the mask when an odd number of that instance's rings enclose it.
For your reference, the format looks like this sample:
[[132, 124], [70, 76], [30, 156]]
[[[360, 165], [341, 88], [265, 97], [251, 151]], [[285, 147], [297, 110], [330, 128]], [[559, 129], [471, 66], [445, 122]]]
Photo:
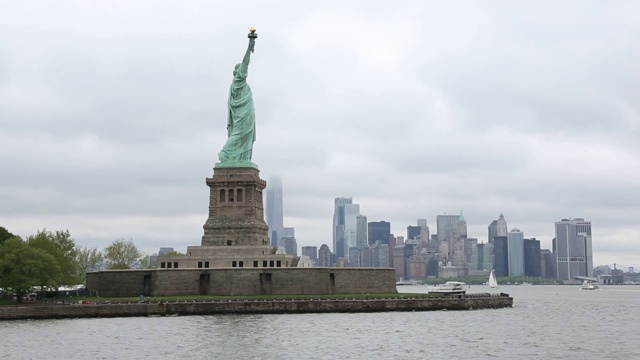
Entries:
[[251, 162], [253, 142], [256, 141], [256, 113], [253, 107], [251, 88], [247, 84], [249, 58], [255, 46], [255, 28], [249, 28], [249, 47], [233, 70], [233, 82], [229, 90], [227, 114], [227, 142], [218, 153], [220, 162], [216, 167], [255, 167]]

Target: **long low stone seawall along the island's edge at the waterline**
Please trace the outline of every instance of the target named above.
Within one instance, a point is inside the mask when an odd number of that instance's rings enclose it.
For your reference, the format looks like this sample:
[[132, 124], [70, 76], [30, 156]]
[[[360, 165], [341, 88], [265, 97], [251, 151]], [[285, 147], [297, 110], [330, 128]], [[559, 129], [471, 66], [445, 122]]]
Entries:
[[158, 303], [3, 306], [0, 307], [0, 320], [213, 314], [477, 310], [499, 309], [511, 306], [513, 306], [513, 298], [507, 294], [387, 299], [190, 300]]

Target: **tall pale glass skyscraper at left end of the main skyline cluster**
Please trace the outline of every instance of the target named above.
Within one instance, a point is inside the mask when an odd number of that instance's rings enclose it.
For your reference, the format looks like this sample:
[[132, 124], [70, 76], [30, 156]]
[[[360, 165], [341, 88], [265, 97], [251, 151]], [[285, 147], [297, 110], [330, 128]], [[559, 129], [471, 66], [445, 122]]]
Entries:
[[352, 198], [335, 198], [333, 250], [338, 258], [348, 257], [349, 247], [356, 246], [358, 215], [360, 215], [360, 205], [354, 204]]

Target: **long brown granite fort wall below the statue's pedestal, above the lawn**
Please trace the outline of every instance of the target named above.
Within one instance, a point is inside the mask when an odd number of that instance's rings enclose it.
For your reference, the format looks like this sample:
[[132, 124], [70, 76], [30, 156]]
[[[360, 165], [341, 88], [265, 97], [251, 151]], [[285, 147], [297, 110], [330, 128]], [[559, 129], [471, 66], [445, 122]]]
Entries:
[[108, 270], [87, 274], [99, 296], [395, 293], [391, 268]]

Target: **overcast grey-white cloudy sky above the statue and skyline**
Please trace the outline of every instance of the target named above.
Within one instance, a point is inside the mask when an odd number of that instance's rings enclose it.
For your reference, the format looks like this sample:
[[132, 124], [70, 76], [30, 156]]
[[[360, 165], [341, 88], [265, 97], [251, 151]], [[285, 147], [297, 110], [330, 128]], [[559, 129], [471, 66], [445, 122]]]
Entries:
[[197, 245], [249, 69], [253, 161], [299, 246], [333, 199], [404, 235], [463, 211], [486, 241], [592, 221], [595, 264], [640, 268], [640, 3], [14, 1], [0, 12], [0, 226], [80, 245]]

